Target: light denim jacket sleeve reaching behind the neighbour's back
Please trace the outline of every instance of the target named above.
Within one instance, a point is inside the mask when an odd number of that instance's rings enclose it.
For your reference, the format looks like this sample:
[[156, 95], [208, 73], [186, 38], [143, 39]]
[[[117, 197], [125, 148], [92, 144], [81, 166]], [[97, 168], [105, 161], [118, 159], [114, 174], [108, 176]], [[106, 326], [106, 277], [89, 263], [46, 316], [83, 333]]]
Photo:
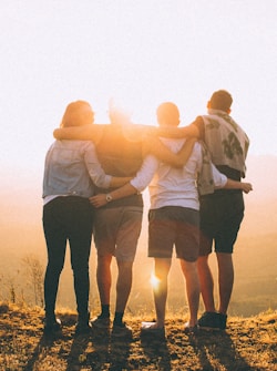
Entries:
[[84, 162], [92, 182], [101, 188], [109, 188], [112, 175], [106, 175], [102, 168], [96, 155], [95, 146], [92, 142], [88, 142], [84, 152]]

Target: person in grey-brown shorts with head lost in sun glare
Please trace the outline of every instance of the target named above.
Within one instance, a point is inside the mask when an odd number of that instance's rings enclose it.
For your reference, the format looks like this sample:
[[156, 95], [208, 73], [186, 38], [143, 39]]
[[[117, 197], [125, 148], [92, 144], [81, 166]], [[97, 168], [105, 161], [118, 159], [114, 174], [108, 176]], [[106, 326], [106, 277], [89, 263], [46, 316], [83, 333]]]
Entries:
[[[110, 118], [116, 112], [110, 112]], [[119, 118], [119, 116], [116, 116]], [[129, 141], [117, 124], [103, 126], [96, 144], [99, 161], [105, 172], [113, 176], [134, 176], [142, 165], [142, 143]], [[94, 328], [110, 327], [110, 293], [112, 284], [111, 262], [117, 264], [116, 299], [113, 319], [113, 337], [130, 337], [132, 329], [122, 320], [132, 287], [132, 268], [141, 234], [143, 199], [141, 194], [112, 200], [107, 189], [105, 206], [96, 209], [94, 241], [98, 249], [98, 287], [101, 313], [93, 321]], [[98, 188], [96, 193], [106, 193]], [[110, 196], [110, 199], [107, 198]]]

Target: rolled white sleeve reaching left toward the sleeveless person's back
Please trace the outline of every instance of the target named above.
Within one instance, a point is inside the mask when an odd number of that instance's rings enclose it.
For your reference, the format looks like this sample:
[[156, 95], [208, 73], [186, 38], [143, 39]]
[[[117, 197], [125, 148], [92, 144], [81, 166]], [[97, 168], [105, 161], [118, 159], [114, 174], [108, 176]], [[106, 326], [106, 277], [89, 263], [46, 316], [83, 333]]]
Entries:
[[142, 192], [152, 181], [157, 167], [157, 158], [152, 155], [146, 156], [143, 161], [142, 167], [136, 173], [135, 177], [130, 182], [130, 184], [135, 187], [137, 192]]

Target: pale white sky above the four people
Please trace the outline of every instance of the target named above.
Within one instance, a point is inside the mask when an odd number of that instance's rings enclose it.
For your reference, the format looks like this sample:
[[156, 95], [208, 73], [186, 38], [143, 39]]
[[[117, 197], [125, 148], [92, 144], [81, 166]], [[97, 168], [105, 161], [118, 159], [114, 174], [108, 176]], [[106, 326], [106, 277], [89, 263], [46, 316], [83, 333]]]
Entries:
[[113, 97], [153, 124], [173, 101], [185, 125], [218, 89], [249, 154], [277, 155], [276, 14], [276, 0], [1, 0], [1, 173], [42, 176], [71, 101], [107, 122]]

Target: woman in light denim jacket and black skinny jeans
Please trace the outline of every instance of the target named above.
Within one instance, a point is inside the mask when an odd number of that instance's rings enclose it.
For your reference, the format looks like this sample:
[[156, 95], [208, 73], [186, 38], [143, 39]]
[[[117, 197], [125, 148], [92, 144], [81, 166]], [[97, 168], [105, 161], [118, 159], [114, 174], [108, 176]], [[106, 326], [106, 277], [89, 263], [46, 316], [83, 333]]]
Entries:
[[[85, 101], [66, 106], [61, 126], [82, 126], [93, 122], [93, 111]], [[88, 333], [89, 323], [89, 258], [91, 251], [93, 208], [89, 197], [93, 184], [88, 164], [95, 163], [92, 143], [55, 141], [50, 147], [43, 178], [43, 231], [48, 250], [44, 277], [44, 333], [61, 330], [55, 317], [60, 275], [69, 241], [76, 299], [76, 333]], [[92, 152], [92, 153], [91, 153]]]

